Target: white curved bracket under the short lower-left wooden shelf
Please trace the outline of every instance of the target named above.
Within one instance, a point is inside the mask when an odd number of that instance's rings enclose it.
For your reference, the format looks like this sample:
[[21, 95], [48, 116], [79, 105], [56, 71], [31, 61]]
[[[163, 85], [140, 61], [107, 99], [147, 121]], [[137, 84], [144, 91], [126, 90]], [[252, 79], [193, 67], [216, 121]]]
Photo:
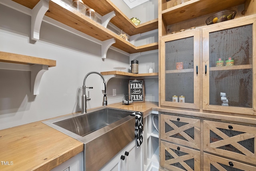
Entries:
[[41, 78], [44, 72], [46, 72], [47, 70], [47, 65], [34, 64], [31, 66], [31, 93], [33, 95], [39, 94], [39, 85], [41, 82]]

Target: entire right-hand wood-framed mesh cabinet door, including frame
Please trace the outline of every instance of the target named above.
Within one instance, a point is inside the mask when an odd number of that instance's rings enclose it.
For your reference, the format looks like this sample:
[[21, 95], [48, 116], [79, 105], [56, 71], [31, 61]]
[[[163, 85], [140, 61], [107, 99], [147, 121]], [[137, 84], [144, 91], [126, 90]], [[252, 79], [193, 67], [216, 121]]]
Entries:
[[255, 115], [256, 16], [203, 33], [203, 109]]

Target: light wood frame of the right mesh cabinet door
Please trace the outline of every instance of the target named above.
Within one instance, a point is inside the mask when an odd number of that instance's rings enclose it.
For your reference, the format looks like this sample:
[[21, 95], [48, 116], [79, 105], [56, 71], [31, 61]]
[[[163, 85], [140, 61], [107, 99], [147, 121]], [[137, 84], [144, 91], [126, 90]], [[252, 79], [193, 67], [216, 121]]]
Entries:
[[[243, 107], [230, 107], [230, 106], [216, 106], [210, 105], [210, 93], [209, 93], [209, 33], [215, 32], [219, 30], [234, 28], [238, 26], [244, 26], [247, 24], [253, 24], [253, 64], [252, 66], [237, 66], [237, 67], [244, 67], [246, 68], [253, 68], [253, 106], [252, 108], [243, 108]], [[228, 113], [241, 113], [241, 114], [248, 114], [248, 115], [256, 115], [256, 15], [238, 18], [236, 20], [230, 20], [227, 22], [212, 24], [210, 26], [206, 26], [202, 29], [202, 46], [203, 46], [203, 63], [202, 66], [207, 66], [207, 70], [203, 69], [203, 109], [210, 110], [210, 111], [221, 111], [221, 112], [228, 112]], [[217, 68], [217, 67], [216, 67]], [[226, 68], [226, 67], [225, 67]], [[237, 68], [237, 69], [240, 69]], [[242, 68], [241, 68], [242, 69]], [[212, 69], [214, 70], [214, 68]], [[227, 68], [228, 70], [228, 68]], [[204, 74], [206, 73], [206, 74]]]

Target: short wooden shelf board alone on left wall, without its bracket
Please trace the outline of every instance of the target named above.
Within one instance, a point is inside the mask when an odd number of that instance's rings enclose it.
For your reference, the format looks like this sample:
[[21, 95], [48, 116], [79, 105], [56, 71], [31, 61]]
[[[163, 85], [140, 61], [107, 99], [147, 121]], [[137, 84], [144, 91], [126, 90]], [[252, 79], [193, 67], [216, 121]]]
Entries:
[[44, 58], [37, 58], [33, 56], [12, 54], [8, 52], [0, 52], [0, 62], [12, 63], [12, 64], [25, 64], [25, 65], [46, 65], [48, 67], [56, 66], [55, 60], [48, 60]]

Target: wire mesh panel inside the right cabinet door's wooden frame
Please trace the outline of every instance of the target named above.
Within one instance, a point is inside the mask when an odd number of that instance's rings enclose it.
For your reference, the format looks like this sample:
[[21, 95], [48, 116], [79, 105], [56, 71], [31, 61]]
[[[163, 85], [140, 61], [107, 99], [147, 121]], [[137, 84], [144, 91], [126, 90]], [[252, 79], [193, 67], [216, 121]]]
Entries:
[[209, 34], [209, 66], [216, 67], [219, 58], [224, 61], [224, 66], [229, 57], [234, 60], [234, 66], [229, 70], [210, 69], [210, 105], [222, 105], [220, 92], [224, 92], [228, 106], [253, 107], [252, 30], [252, 24], [248, 24]]

